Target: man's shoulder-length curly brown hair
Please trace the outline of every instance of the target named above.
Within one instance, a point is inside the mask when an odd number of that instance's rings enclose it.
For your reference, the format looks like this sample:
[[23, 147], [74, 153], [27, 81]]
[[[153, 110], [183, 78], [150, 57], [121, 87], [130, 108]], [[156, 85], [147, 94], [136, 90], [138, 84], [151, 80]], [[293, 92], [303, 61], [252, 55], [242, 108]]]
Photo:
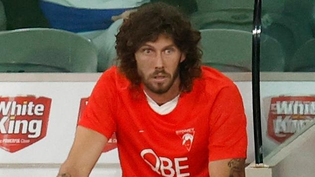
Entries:
[[186, 59], [179, 64], [180, 87], [189, 92], [193, 80], [201, 76], [200, 32], [192, 29], [175, 7], [165, 3], [149, 3], [125, 19], [116, 36], [118, 68], [135, 85], [141, 77], [137, 71], [136, 51], [146, 42], [154, 42], [160, 34], [170, 36]]

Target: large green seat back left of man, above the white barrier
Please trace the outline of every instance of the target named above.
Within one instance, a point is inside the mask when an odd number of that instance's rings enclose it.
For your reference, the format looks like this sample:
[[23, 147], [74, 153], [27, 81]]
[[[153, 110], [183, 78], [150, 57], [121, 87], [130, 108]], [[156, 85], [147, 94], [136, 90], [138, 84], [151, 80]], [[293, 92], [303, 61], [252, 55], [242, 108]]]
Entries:
[[96, 72], [97, 53], [71, 32], [27, 28], [0, 32], [0, 72]]

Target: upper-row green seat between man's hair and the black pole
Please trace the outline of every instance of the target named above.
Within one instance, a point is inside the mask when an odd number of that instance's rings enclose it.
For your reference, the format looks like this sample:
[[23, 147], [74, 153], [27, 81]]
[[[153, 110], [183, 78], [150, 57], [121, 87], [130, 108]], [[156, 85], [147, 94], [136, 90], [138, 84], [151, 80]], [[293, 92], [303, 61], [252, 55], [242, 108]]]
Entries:
[[198, 11], [190, 16], [196, 29], [252, 30], [252, 0], [197, 0], [197, 4]]

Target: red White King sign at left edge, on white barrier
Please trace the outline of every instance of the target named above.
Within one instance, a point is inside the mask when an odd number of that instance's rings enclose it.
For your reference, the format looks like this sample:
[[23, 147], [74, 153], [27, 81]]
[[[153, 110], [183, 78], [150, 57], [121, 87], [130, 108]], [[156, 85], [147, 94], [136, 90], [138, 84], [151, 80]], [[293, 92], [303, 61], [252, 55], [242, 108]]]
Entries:
[[50, 105], [46, 97], [0, 97], [0, 148], [13, 153], [44, 138]]

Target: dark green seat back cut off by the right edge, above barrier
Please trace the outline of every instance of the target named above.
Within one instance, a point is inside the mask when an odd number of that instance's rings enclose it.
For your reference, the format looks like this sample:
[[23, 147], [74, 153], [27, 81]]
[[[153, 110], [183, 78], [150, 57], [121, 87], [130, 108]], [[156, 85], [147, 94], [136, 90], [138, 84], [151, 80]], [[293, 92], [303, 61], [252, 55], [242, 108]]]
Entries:
[[293, 58], [286, 60], [286, 71], [315, 72], [315, 39], [307, 41]]

